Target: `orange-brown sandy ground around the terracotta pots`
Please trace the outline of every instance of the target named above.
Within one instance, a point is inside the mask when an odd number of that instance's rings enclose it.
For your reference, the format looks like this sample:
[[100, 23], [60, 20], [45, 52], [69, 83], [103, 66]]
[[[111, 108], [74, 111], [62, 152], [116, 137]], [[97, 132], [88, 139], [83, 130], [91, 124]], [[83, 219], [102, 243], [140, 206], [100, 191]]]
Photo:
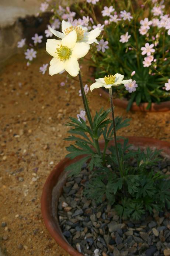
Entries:
[[[43, 184], [53, 167], [64, 158], [69, 115], [83, 109], [79, 83], [64, 87], [65, 73], [49, 76], [39, 66], [51, 57], [41, 54], [25, 67], [24, 57], [13, 57], [0, 74], [0, 248], [4, 255], [67, 256], [51, 238], [41, 215]], [[87, 81], [87, 63], [83, 63]], [[77, 79], [77, 78], [76, 78]], [[90, 85], [89, 82], [87, 82]], [[109, 102], [89, 92], [93, 112]], [[130, 117], [121, 135], [170, 141], [170, 112], [142, 113], [115, 108], [116, 115]], [[6, 226], [1, 226], [6, 222]], [[1, 255], [1, 252], [0, 252]]]

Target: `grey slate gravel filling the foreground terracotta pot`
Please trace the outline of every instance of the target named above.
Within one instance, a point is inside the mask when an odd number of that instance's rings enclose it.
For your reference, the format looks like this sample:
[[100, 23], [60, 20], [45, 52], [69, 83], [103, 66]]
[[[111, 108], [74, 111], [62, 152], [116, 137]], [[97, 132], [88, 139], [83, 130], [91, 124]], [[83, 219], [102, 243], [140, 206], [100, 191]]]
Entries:
[[[162, 161], [160, 170], [168, 173], [170, 161]], [[122, 220], [104, 201], [87, 200], [83, 189], [91, 174], [84, 167], [67, 178], [59, 198], [60, 227], [67, 241], [85, 256], [159, 256], [170, 255], [170, 213], [149, 213], [140, 221]]]

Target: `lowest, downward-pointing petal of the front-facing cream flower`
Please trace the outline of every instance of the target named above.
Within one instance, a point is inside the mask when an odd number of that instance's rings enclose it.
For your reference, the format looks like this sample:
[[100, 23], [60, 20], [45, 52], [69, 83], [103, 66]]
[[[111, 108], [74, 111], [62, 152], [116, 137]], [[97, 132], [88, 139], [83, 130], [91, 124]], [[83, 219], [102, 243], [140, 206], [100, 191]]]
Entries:
[[72, 77], [76, 77], [79, 74], [80, 67], [78, 60], [75, 56], [72, 56], [65, 62], [65, 70], [72, 75]]

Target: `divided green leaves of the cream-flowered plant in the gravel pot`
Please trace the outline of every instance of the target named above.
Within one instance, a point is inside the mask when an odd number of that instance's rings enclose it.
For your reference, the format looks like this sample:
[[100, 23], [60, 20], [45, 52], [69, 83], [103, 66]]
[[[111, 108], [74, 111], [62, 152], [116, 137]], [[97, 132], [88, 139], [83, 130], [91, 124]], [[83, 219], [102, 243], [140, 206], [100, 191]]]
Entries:
[[[146, 148], [134, 151], [128, 139], [119, 138], [118, 154], [115, 146], [108, 146], [113, 140], [113, 125], [108, 118], [109, 110], [103, 108], [96, 112], [94, 126], [91, 129], [81, 118], [78, 121], [70, 118], [67, 124], [71, 127], [71, 134], [66, 140], [74, 144], [68, 146], [67, 157], [75, 159], [74, 163], [67, 166], [69, 175], [78, 175], [83, 164], [87, 163], [91, 179], [84, 194], [87, 198], [95, 199], [97, 203], [104, 200], [115, 207], [122, 218], [140, 219], [147, 211], [170, 208], [170, 181], [162, 172], [154, 170], [161, 158], [160, 151]], [[115, 118], [116, 130], [129, 125], [129, 119]], [[97, 153], [95, 139], [103, 136], [105, 149]], [[110, 154], [106, 154], [109, 151]], [[80, 158], [81, 156], [81, 158]], [[76, 161], [77, 159], [77, 161]], [[107, 167], [110, 165], [111, 167]]]

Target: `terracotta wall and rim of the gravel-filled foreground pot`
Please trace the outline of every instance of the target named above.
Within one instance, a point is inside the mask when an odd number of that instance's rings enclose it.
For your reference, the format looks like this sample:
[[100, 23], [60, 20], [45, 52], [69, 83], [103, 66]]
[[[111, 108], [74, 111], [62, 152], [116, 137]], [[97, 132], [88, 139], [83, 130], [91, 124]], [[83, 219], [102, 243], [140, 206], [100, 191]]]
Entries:
[[[133, 144], [133, 148], [146, 148], [149, 146], [151, 148], [162, 149], [163, 155], [170, 157], [170, 142], [145, 137], [127, 138], [129, 139], [129, 143]], [[100, 141], [100, 148], [103, 150], [104, 141]], [[67, 179], [67, 172], [64, 171], [66, 166], [76, 162], [82, 157], [83, 156], [79, 156], [73, 160], [65, 158], [60, 161], [46, 179], [41, 198], [41, 211], [46, 228], [48, 229], [51, 236], [56, 240], [58, 245], [60, 245], [66, 252], [73, 256], [82, 256], [82, 254], [77, 252], [77, 250], [75, 250], [63, 236], [57, 218], [57, 206], [58, 199], [62, 193], [62, 187]]]

